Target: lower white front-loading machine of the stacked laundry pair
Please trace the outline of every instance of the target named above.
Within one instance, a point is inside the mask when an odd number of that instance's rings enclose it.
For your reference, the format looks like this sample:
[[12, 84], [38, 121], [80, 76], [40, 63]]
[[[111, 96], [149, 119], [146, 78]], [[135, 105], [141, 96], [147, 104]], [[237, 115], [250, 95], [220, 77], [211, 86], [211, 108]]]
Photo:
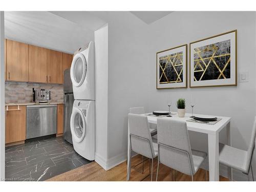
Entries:
[[74, 150], [88, 160], [95, 157], [95, 101], [75, 100], [70, 119]]

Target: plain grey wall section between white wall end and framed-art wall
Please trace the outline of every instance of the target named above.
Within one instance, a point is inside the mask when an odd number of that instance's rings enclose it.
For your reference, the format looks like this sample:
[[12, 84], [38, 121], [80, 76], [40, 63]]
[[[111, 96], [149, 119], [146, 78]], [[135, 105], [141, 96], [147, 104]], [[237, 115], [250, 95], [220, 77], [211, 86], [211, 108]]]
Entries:
[[131, 106], [147, 107], [147, 25], [130, 12], [94, 12], [109, 26], [108, 163], [126, 160], [127, 114]]

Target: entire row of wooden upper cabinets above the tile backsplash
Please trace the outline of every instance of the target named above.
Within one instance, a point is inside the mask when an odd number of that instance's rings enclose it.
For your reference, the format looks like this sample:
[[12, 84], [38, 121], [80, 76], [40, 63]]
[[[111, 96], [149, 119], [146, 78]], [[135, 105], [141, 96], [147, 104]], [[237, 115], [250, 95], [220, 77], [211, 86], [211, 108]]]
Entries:
[[73, 55], [5, 39], [5, 79], [8, 81], [63, 83], [63, 71]]

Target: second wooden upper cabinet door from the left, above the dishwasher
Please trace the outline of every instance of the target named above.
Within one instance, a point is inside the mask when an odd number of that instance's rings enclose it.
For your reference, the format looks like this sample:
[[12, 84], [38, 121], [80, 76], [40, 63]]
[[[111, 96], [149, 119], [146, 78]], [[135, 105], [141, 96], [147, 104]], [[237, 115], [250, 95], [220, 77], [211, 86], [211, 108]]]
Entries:
[[47, 49], [29, 45], [29, 81], [47, 82]]

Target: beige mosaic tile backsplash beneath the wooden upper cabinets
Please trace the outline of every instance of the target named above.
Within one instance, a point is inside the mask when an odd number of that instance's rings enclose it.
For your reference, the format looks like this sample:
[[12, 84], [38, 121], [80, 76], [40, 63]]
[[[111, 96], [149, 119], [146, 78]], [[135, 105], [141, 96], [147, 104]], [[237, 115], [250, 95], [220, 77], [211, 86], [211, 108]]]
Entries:
[[28, 82], [5, 82], [5, 102], [6, 103], [26, 103], [32, 102], [32, 88], [49, 89], [51, 91], [50, 102], [63, 102], [62, 84], [43, 84]]

